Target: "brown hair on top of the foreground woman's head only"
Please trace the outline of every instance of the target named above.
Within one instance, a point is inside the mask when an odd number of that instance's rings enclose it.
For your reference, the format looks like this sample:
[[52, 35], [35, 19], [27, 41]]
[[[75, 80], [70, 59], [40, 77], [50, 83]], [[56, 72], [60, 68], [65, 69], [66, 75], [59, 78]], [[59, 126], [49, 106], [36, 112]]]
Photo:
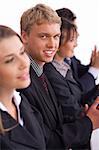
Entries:
[[21, 40], [21, 37], [13, 29], [4, 25], [0, 25], [0, 41], [12, 36], [17, 36]]

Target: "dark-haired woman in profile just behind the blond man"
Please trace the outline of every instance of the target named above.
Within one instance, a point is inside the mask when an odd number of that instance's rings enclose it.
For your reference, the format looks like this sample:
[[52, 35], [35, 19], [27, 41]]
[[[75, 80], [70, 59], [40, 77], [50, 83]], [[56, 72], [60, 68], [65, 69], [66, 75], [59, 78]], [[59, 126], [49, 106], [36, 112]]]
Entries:
[[[55, 91], [67, 123], [75, 122], [85, 113], [82, 105], [84, 92], [74, 79], [70, 65], [64, 61], [64, 58], [70, 55], [76, 46], [77, 28], [62, 18], [60, 45], [53, 61], [44, 65], [44, 73]], [[88, 149], [89, 143], [88, 146], [85, 145], [84, 147]]]

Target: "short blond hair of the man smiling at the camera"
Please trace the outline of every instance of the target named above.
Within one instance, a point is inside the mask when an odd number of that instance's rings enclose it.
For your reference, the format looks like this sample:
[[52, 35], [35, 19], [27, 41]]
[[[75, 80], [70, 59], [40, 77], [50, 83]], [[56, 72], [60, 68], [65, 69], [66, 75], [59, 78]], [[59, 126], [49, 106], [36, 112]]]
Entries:
[[34, 24], [40, 25], [45, 22], [58, 23], [61, 25], [61, 18], [58, 16], [56, 11], [51, 9], [49, 6], [37, 4], [35, 7], [26, 10], [22, 14], [20, 20], [21, 33], [22, 31], [25, 31], [29, 34]]

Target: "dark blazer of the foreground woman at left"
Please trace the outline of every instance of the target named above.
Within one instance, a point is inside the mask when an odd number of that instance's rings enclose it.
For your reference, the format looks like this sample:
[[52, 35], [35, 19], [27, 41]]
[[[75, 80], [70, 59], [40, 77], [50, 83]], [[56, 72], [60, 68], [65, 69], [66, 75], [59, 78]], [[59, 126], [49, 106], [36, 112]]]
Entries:
[[35, 109], [31, 109], [25, 97], [22, 99], [20, 109], [24, 121], [23, 127], [7, 112], [0, 110], [4, 128], [13, 127], [0, 134], [1, 150], [45, 150], [41, 116]]

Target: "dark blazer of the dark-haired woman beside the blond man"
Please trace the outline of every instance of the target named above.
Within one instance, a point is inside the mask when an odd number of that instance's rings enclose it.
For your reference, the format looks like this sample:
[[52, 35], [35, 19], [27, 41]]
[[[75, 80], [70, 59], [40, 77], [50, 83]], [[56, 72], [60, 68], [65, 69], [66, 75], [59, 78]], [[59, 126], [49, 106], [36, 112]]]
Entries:
[[79, 84], [70, 76], [63, 77], [52, 63], [44, 66], [44, 73], [55, 91], [65, 121], [71, 122], [81, 118], [83, 108], [81, 106], [82, 91]]

